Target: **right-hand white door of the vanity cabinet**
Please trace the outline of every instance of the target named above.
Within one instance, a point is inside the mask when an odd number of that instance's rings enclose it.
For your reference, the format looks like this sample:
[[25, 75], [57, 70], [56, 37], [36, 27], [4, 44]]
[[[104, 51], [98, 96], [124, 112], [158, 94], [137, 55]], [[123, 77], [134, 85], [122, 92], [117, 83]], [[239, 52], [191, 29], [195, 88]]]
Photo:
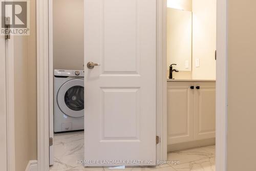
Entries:
[[195, 139], [215, 138], [215, 82], [195, 82]]

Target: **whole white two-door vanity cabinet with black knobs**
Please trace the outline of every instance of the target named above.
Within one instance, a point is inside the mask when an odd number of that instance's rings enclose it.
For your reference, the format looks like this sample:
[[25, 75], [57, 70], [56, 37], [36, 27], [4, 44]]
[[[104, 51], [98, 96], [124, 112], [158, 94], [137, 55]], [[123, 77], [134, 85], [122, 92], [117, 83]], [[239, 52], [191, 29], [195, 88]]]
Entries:
[[167, 82], [167, 144], [215, 138], [215, 81]]

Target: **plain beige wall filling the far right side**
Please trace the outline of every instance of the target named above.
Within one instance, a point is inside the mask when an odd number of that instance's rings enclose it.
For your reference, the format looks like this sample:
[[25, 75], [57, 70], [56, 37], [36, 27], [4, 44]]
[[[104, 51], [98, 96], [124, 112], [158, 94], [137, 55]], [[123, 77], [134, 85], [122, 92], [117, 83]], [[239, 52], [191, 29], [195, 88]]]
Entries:
[[228, 1], [227, 171], [256, 170], [256, 1]]

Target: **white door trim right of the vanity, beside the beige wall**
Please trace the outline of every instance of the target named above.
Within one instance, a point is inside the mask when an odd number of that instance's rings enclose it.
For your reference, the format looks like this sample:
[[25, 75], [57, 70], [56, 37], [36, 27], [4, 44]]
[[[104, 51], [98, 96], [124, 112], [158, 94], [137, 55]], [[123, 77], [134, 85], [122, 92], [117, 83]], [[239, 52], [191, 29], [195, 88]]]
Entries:
[[216, 170], [227, 169], [227, 0], [217, 0]]

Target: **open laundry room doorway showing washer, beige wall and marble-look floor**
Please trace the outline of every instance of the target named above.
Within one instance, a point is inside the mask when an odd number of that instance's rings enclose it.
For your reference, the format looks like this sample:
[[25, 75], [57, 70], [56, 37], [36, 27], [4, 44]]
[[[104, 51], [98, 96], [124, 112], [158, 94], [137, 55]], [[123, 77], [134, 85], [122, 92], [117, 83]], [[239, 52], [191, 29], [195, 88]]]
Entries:
[[84, 19], [83, 0], [49, 4], [49, 165], [56, 170], [83, 160]]

